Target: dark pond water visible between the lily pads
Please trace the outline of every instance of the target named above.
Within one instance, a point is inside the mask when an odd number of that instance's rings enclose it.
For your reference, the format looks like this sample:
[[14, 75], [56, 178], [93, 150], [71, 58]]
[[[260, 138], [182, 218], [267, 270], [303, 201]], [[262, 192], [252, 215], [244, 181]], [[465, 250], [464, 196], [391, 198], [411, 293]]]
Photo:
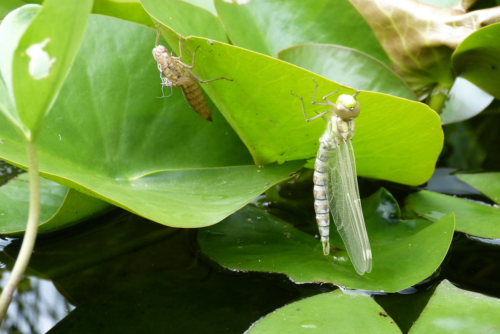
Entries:
[[[5, 164], [0, 168], [6, 171], [5, 180], [19, 171]], [[315, 233], [311, 176], [311, 170], [303, 170], [295, 180], [271, 188], [254, 203]], [[455, 180], [448, 179], [448, 187], [450, 182]], [[384, 186], [402, 205], [408, 193], [440, 183], [431, 179], [422, 187], [409, 187], [359, 178], [359, 184], [361, 197]], [[488, 201], [478, 194], [461, 196]], [[224, 269], [199, 251], [196, 232], [163, 226], [117, 208], [40, 235], [28, 277], [2, 332], [240, 334], [278, 307], [335, 289], [332, 284], [295, 284], [282, 274]], [[4, 284], [20, 240], [0, 241], [5, 245], [0, 252]], [[448, 254], [431, 277], [399, 293], [372, 297], [403, 332], [442, 279], [500, 297], [498, 241], [455, 232]]]

